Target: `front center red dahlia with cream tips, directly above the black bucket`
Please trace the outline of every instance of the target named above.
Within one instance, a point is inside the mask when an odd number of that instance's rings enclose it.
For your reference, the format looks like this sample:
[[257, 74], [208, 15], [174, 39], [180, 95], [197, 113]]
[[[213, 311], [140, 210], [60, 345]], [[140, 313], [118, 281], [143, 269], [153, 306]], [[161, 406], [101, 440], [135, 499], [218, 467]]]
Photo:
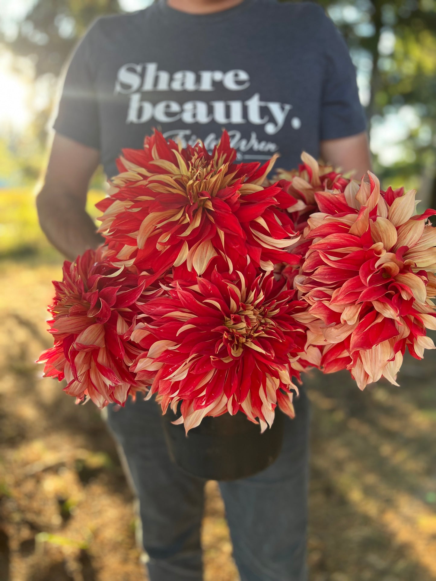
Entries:
[[244, 412], [271, 425], [274, 410], [293, 417], [292, 375], [305, 347], [306, 329], [294, 318], [306, 304], [294, 300], [271, 273], [249, 264], [243, 272], [199, 277], [195, 285], [175, 282], [168, 295], [141, 310], [152, 322], [137, 322], [131, 339], [143, 353], [131, 370], [151, 383], [163, 413], [176, 411], [188, 431], [206, 415]]

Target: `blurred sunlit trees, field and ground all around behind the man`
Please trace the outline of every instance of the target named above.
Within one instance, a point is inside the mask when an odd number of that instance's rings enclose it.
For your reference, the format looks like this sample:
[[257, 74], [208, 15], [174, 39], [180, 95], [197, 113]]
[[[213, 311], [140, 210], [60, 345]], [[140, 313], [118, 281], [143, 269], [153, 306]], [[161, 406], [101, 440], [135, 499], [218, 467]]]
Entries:
[[[91, 21], [146, 0], [0, 0], [0, 580], [140, 581], [133, 497], [94, 407], [34, 364], [62, 258], [38, 227], [35, 184], [63, 63]], [[436, 207], [436, 1], [321, 3], [355, 63], [383, 185]], [[104, 195], [91, 184], [88, 210]], [[400, 388], [306, 379], [313, 404], [310, 581], [436, 580], [433, 352]], [[205, 581], [237, 581], [209, 483]], [[170, 502], [170, 499], [169, 499]]]

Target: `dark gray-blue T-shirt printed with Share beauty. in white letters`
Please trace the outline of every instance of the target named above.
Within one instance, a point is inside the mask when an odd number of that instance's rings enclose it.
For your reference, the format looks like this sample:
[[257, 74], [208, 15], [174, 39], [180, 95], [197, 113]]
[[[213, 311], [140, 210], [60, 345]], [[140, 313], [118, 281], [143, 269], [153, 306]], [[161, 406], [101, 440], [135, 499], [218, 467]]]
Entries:
[[95, 21], [70, 60], [56, 131], [101, 151], [108, 176], [122, 148], [154, 127], [212, 149], [223, 128], [243, 161], [298, 166], [323, 139], [365, 130], [344, 39], [312, 3], [244, 0], [191, 15], [158, 0]]

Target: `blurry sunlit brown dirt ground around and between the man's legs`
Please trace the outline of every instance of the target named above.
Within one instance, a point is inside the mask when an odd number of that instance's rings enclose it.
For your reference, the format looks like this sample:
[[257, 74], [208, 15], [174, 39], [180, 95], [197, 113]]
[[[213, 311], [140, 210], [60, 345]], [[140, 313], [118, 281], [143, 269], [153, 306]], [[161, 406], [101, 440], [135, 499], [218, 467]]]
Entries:
[[[97, 408], [33, 362], [59, 265], [2, 263], [0, 581], [140, 581], [133, 496]], [[310, 581], [436, 580], [434, 352], [400, 388], [306, 378], [312, 400]], [[203, 526], [206, 581], [236, 581], [216, 483]]]

